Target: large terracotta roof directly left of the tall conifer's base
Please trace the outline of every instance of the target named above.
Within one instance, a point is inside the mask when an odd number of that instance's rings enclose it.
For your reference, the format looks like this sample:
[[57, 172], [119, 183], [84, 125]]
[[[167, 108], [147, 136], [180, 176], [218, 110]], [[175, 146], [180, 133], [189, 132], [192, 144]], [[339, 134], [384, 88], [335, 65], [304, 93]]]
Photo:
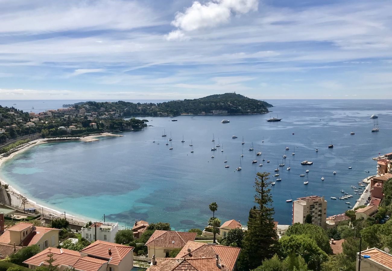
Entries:
[[[191, 253], [188, 252], [191, 249]], [[181, 249], [176, 258], [215, 258], [216, 254], [219, 255], [221, 263], [231, 271], [234, 269], [238, 255], [240, 255], [240, 248], [229, 246], [209, 245], [205, 243], [198, 243], [188, 241], [187, 244]]]

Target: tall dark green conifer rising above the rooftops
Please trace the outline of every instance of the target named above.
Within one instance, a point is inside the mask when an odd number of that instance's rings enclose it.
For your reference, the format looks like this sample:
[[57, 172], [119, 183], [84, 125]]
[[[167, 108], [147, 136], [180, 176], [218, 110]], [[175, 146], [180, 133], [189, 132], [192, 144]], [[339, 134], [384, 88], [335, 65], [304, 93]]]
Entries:
[[240, 270], [254, 269], [265, 259], [272, 258], [276, 251], [278, 236], [274, 229], [274, 208], [267, 172], [258, 172], [255, 178], [254, 202], [257, 204], [249, 211], [248, 230], [243, 239], [238, 267]]

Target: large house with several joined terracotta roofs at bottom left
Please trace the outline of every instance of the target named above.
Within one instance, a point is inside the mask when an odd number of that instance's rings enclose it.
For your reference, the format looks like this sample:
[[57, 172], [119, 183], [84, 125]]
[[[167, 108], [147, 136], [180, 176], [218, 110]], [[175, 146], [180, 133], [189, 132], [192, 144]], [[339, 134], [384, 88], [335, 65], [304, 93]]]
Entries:
[[133, 247], [96, 241], [80, 252], [70, 249], [47, 248], [24, 261], [29, 268], [48, 266], [49, 253], [53, 254], [58, 270], [129, 271], [133, 267]]

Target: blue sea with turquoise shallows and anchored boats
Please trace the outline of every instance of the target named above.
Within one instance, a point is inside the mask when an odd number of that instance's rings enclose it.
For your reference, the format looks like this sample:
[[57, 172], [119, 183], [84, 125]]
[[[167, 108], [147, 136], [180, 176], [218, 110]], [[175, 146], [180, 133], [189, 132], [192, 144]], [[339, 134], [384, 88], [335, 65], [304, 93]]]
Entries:
[[[3, 100], [0, 105], [40, 112], [74, 102], [78, 101]], [[270, 114], [143, 117], [149, 126], [120, 133], [123, 137], [34, 146], [4, 163], [0, 175], [38, 204], [91, 220], [100, 221], [105, 214], [106, 220], [123, 228], [143, 219], [169, 222], [179, 231], [202, 229], [212, 216], [211, 202], [217, 202], [215, 216], [222, 222], [236, 219], [246, 224], [254, 206], [257, 172], [269, 172], [269, 181], [276, 182], [270, 193], [274, 220], [279, 224], [292, 222], [292, 203], [287, 199], [324, 196], [328, 216], [344, 213], [347, 201], [354, 206], [359, 195], [350, 186], [376, 174], [372, 157], [391, 152], [391, 101], [267, 102], [274, 105]], [[372, 114], [379, 116], [379, 132], [371, 132]], [[267, 122], [270, 117], [282, 120]], [[221, 123], [222, 119], [230, 123]], [[163, 133], [167, 136], [162, 137]], [[217, 150], [211, 151], [218, 143]], [[330, 144], [334, 148], [328, 148]], [[251, 146], [253, 151], [249, 151]], [[262, 154], [256, 157], [257, 152]], [[257, 163], [252, 163], [254, 159]], [[301, 165], [304, 160], [313, 164]], [[242, 170], [236, 171], [240, 163]], [[279, 167], [279, 177], [274, 177], [280, 163], [285, 166]], [[286, 170], [288, 166], [290, 170]], [[305, 170], [309, 173], [300, 177]], [[305, 181], [309, 184], [304, 185]], [[340, 197], [341, 189], [354, 197], [330, 199]]]

